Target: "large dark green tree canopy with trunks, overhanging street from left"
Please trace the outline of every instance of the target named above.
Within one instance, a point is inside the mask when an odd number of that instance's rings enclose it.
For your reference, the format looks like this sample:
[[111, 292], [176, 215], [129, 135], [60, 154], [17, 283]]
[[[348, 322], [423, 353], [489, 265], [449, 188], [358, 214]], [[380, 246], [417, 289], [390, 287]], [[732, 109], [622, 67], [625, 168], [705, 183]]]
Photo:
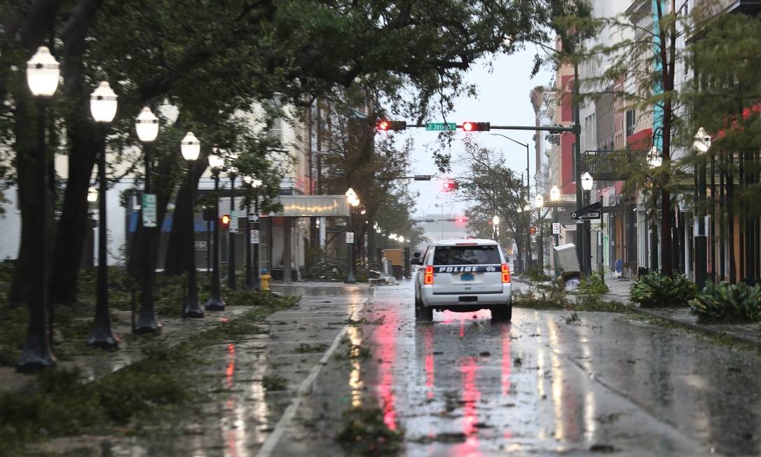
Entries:
[[[584, 2], [581, 2], [584, 3]], [[68, 177], [56, 226], [51, 281], [53, 299], [76, 299], [77, 263], [88, 230], [87, 189], [94, 160], [103, 143], [119, 147], [116, 137], [129, 132], [144, 104], [165, 102], [179, 108], [177, 133], [193, 130], [204, 142], [193, 177], [206, 165], [215, 134], [237, 110], [281, 94], [283, 101], [308, 104], [336, 87], [361, 80], [378, 88], [393, 107], [425, 117], [432, 102], [451, 107], [468, 91], [462, 72], [489, 53], [511, 53], [526, 41], [546, 40], [547, 24], [578, 11], [565, 0], [351, 3], [314, 0], [231, 0], [189, 4], [180, 0], [11, 0], [0, 5], [0, 138], [11, 139], [24, 160], [14, 163], [22, 213], [33, 210], [30, 183], [39, 167], [33, 160], [30, 94], [24, 63], [43, 43], [62, 63], [63, 86], [53, 116], [65, 133]], [[89, 117], [89, 94], [107, 80], [119, 95], [119, 113], [109, 130]], [[408, 97], [409, 90], [414, 94]], [[434, 105], [435, 106], [435, 105]], [[176, 134], [177, 134], [176, 133]], [[177, 135], [180, 136], [181, 135]], [[157, 145], [157, 174], [166, 182], [182, 176], [177, 138]], [[139, 154], [132, 160], [139, 160]], [[129, 158], [124, 158], [128, 160]], [[52, 163], [52, 161], [51, 161]], [[8, 168], [11, 169], [11, 168]], [[180, 181], [177, 207], [189, 193]], [[51, 186], [50, 201], [56, 200]], [[160, 200], [160, 203], [163, 200]], [[53, 208], [49, 219], [53, 221]], [[28, 221], [29, 218], [24, 218]], [[53, 224], [49, 224], [53, 226]], [[31, 227], [22, 225], [21, 271], [15, 299], [23, 299], [29, 273]]]

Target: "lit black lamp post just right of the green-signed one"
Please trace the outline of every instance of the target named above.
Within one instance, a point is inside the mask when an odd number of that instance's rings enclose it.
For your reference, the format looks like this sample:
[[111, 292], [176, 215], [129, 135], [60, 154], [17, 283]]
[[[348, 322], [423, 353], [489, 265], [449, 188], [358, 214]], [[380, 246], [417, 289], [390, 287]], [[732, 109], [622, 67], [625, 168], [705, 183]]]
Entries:
[[193, 132], [185, 134], [180, 142], [180, 151], [183, 158], [188, 162], [188, 233], [186, 249], [188, 250], [188, 288], [185, 294], [183, 317], [202, 318], [203, 308], [198, 303], [198, 285], [196, 283], [196, 224], [193, 219], [193, 203], [196, 200], [196, 183], [193, 181], [193, 165], [201, 153], [201, 142], [193, 135]]

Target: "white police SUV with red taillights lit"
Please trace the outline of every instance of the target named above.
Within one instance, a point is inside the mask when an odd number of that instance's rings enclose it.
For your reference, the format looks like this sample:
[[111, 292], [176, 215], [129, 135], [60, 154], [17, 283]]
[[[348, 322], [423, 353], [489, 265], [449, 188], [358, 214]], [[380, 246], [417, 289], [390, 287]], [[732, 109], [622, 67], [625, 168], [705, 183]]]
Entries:
[[428, 246], [410, 262], [415, 277], [415, 315], [431, 321], [433, 311], [489, 309], [492, 318], [512, 318], [510, 268], [496, 241], [445, 240]]

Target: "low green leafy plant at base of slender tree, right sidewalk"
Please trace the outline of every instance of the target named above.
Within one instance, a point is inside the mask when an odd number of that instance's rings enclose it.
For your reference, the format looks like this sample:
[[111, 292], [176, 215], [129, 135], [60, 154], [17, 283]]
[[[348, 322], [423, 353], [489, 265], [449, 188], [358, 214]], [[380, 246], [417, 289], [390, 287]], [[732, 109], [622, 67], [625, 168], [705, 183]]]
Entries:
[[640, 308], [686, 306], [695, 298], [695, 283], [684, 275], [661, 276], [648, 273], [640, 276], [630, 289], [632, 302]]

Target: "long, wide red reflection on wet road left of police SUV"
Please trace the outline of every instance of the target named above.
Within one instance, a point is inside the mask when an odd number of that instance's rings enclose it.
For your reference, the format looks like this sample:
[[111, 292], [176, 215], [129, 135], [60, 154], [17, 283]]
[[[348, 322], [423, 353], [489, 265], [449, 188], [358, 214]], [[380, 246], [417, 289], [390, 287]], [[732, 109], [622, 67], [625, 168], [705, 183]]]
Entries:
[[377, 342], [376, 356], [380, 363], [380, 401], [383, 405], [383, 421], [390, 430], [396, 430], [396, 395], [393, 393], [393, 368], [396, 366], [396, 338], [399, 333], [399, 316], [390, 309], [374, 333]]

